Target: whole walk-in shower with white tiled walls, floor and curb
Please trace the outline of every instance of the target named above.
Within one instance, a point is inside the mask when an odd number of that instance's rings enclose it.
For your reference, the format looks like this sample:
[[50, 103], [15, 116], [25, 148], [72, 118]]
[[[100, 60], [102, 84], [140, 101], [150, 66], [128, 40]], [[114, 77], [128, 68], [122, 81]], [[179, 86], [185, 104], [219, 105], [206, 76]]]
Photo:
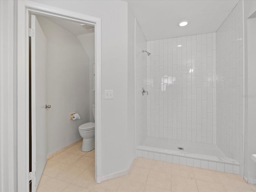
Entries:
[[139, 33], [136, 54], [151, 54], [136, 58], [137, 156], [242, 175], [242, 1], [216, 32]]

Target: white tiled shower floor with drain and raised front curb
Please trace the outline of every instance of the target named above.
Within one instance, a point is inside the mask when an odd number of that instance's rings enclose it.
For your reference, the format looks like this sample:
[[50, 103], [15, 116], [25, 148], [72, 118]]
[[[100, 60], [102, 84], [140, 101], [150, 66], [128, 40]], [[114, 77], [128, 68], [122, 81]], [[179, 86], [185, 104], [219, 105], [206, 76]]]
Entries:
[[137, 156], [236, 174], [240, 166], [236, 160], [227, 158], [216, 144], [150, 136], [138, 146]]

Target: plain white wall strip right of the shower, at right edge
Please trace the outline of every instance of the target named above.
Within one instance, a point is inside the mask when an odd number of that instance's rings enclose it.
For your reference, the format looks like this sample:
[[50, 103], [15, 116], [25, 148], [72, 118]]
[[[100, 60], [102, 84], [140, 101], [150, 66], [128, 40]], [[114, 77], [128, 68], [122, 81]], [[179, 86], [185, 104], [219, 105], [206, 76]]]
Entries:
[[244, 0], [244, 178], [256, 184], [256, 1]]

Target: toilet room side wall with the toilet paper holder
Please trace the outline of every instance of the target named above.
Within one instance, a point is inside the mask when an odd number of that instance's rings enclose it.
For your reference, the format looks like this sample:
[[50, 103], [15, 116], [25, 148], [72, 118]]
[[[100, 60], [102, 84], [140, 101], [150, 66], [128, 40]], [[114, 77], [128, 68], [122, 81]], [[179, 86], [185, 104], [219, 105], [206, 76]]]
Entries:
[[[89, 122], [89, 57], [78, 38], [44, 16], [37, 16], [47, 42], [47, 154], [81, 138]], [[80, 120], [69, 120], [77, 112]]]

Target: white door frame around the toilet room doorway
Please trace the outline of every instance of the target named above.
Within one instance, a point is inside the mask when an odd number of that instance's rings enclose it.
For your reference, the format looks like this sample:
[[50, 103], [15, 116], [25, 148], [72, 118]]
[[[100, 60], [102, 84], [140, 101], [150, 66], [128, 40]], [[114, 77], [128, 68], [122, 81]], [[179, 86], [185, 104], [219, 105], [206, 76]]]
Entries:
[[95, 180], [102, 182], [101, 19], [32, 2], [18, 1], [17, 39], [17, 168], [18, 191], [29, 191], [29, 14], [54, 16], [95, 26]]

